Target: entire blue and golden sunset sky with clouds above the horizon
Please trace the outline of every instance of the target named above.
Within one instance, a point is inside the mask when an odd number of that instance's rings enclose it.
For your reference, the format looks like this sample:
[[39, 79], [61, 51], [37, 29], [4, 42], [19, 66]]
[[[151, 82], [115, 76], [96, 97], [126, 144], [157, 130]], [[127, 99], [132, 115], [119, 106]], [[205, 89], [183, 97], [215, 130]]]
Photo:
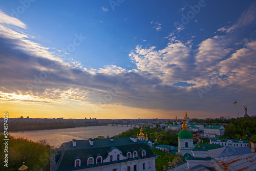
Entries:
[[244, 103], [255, 115], [255, 9], [255, 1], [1, 1], [0, 113], [218, 118], [243, 116]]

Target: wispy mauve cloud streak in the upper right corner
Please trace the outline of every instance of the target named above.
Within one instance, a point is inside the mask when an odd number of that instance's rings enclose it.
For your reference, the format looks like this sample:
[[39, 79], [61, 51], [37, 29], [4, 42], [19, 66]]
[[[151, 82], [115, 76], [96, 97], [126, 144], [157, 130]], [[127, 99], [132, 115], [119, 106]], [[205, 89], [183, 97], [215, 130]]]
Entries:
[[238, 18], [238, 21], [236, 24], [234, 24], [232, 26], [222, 27], [222, 28], [218, 29], [218, 31], [230, 33], [237, 28], [247, 26], [247, 25], [253, 23], [255, 21], [255, 17], [256, 17], [255, 8], [256, 8], [255, 4], [251, 5], [248, 8], [248, 10], [244, 11], [242, 13], [242, 15]]

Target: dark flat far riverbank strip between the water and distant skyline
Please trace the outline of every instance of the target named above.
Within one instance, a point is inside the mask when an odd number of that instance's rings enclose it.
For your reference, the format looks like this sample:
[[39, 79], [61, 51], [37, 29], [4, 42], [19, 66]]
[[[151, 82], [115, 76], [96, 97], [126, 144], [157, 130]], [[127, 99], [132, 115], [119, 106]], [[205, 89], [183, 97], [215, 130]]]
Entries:
[[[8, 132], [66, 129], [85, 126], [102, 126], [103, 123], [8, 123]], [[0, 127], [4, 132], [4, 126]]]

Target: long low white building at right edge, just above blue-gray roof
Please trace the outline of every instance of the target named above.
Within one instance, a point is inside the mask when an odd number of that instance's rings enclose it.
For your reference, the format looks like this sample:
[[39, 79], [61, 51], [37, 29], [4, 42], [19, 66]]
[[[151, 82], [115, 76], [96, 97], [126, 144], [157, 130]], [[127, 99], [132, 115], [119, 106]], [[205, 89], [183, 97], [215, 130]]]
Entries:
[[211, 144], [220, 144], [222, 146], [238, 146], [250, 147], [248, 140], [234, 140], [234, 139], [210, 139]]

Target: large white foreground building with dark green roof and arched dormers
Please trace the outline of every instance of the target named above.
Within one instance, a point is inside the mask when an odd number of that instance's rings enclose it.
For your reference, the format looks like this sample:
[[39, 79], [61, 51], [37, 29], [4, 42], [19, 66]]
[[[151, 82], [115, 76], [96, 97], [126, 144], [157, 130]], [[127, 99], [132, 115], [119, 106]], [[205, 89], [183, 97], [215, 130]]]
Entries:
[[150, 146], [134, 136], [126, 138], [75, 140], [62, 143], [51, 156], [51, 171], [145, 170], [155, 171]]

